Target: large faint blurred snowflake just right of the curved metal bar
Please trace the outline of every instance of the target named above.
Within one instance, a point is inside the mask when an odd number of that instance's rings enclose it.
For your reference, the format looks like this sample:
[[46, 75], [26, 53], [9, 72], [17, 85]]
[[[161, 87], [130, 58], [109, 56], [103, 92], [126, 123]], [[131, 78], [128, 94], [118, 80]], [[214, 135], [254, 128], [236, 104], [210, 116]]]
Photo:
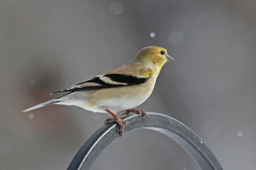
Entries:
[[216, 120], [209, 118], [202, 123], [201, 131], [206, 138], [216, 138], [220, 134], [220, 125]]

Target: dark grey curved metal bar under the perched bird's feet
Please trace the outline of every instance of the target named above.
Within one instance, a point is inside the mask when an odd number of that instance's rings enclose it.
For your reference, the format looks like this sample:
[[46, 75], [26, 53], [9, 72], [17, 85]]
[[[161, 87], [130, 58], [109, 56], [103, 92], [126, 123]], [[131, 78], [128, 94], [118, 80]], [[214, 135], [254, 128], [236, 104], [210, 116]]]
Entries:
[[[222, 169], [220, 163], [213, 153], [204, 144], [195, 132], [186, 125], [172, 117], [160, 113], [147, 113], [147, 118], [140, 118], [138, 115], [125, 115], [123, 120], [128, 126], [124, 133], [134, 129], [146, 128], [165, 134], [176, 141], [186, 152], [196, 160], [202, 169]], [[94, 160], [114, 139], [119, 137], [118, 126], [115, 123], [105, 124], [95, 131], [90, 138], [81, 146], [68, 166], [68, 170], [90, 169]]]

